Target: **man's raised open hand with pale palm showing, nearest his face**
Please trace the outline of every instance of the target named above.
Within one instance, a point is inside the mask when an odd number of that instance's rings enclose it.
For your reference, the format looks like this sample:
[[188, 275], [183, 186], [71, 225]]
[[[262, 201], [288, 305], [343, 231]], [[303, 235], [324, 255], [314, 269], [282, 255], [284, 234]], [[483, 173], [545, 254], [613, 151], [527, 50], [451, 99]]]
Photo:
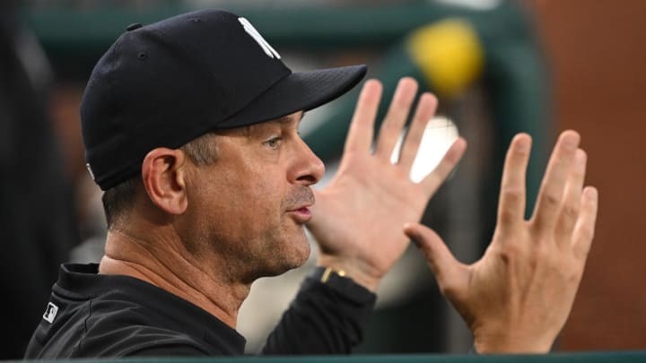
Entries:
[[319, 264], [344, 270], [371, 290], [404, 253], [409, 241], [402, 233], [404, 224], [421, 218], [432, 194], [466, 148], [464, 140], [458, 139], [429, 176], [420, 183], [410, 180], [423, 131], [437, 105], [437, 99], [424, 93], [400, 158], [391, 163], [416, 91], [413, 79], [399, 82], [371, 152], [381, 84], [374, 80], [365, 83], [338, 172], [329, 186], [316, 193], [317, 203], [308, 226], [319, 243]]

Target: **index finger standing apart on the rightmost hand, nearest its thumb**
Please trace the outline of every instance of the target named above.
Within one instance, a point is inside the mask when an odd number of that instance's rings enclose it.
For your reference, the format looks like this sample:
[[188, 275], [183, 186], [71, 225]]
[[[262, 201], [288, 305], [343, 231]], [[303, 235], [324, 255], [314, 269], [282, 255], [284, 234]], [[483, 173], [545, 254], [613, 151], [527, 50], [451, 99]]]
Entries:
[[498, 201], [498, 225], [502, 232], [513, 229], [525, 217], [526, 186], [531, 137], [517, 134], [511, 140], [502, 169], [501, 193]]

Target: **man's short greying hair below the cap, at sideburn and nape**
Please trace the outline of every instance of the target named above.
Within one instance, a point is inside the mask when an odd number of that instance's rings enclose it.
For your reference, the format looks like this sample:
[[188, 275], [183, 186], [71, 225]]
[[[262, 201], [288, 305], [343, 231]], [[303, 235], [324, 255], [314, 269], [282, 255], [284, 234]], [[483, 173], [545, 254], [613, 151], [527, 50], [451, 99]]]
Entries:
[[[188, 160], [197, 166], [213, 164], [218, 157], [216, 134], [214, 132], [203, 134], [179, 148], [186, 152]], [[135, 203], [137, 193], [142, 189], [141, 175], [131, 177], [124, 182], [113, 186], [103, 193], [101, 202], [106, 215], [108, 228], [118, 222], [118, 217], [128, 212]]]

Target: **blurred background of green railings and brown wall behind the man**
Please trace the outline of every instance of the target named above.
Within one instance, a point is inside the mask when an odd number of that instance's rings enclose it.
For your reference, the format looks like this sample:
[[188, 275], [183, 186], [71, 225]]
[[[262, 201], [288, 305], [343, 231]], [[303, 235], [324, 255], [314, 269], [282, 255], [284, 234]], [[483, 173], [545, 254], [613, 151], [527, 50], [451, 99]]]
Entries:
[[[385, 83], [414, 76], [441, 99], [432, 144], [454, 137], [467, 155], [423, 220], [464, 262], [495, 223], [511, 136], [534, 137], [530, 202], [559, 131], [581, 132], [588, 183], [600, 192], [597, 236], [555, 350], [646, 349], [646, 2], [624, 0], [24, 0], [0, 3], [0, 359], [22, 358], [57, 264], [96, 262], [105, 221], [83, 160], [78, 106], [92, 66], [133, 22], [222, 7], [245, 16], [293, 70], [365, 63]], [[308, 113], [302, 134], [336, 169], [357, 92]], [[432, 154], [441, 152], [430, 147]], [[432, 155], [420, 155], [427, 165]], [[529, 208], [528, 208], [529, 209]], [[259, 349], [314, 261], [261, 279], [240, 314]], [[470, 334], [441, 298], [415, 248], [388, 274], [357, 352], [466, 352]]]

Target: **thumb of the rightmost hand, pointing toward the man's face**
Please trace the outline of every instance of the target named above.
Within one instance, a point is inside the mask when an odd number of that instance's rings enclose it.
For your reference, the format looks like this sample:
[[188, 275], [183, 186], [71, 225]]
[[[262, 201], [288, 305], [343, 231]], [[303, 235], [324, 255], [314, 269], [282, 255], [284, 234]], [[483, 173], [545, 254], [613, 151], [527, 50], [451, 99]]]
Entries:
[[449, 297], [466, 288], [464, 265], [450, 253], [437, 233], [419, 223], [407, 223], [404, 233], [422, 251], [444, 295]]

